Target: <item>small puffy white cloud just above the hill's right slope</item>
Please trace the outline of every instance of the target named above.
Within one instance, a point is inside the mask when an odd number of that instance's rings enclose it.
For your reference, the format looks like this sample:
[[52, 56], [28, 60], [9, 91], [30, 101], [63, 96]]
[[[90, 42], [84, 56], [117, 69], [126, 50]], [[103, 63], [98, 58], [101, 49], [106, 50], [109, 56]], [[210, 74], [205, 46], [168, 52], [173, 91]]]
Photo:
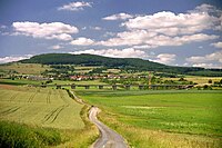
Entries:
[[155, 62], [160, 62], [160, 63], [172, 63], [175, 60], [175, 55], [170, 55], [170, 53], [161, 53], [157, 56], [157, 59], [153, 60]]

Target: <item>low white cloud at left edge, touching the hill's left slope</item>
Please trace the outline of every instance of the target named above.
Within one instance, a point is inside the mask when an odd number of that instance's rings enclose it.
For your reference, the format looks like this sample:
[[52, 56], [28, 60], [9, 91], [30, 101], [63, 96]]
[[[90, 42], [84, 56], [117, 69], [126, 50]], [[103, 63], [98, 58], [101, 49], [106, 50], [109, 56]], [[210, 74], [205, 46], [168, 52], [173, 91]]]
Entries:
[[19, 61], [19, 60], [23, 60], [23, 59], [29, 59], [31, 57], [32, 57], [32, 55], [0, 57], [0, 63]]

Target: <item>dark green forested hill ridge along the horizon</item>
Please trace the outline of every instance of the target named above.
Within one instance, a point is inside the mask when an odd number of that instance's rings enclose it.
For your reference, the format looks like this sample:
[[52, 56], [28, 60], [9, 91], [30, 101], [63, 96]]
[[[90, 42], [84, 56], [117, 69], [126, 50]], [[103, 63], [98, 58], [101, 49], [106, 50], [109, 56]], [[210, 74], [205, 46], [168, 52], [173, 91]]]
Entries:
[[139, 58], [109, 58], [95, 55], [47, 53], [21, 60], [24, 63], [42, 65], [82, 65], [103, 66], [108, 68], [122, 68], [133, 70], [149, 70], [171, 73], [190, 73], [201, 76], [222, 76], [221, 69], [204, 69], [193, 67], [172, 67]]

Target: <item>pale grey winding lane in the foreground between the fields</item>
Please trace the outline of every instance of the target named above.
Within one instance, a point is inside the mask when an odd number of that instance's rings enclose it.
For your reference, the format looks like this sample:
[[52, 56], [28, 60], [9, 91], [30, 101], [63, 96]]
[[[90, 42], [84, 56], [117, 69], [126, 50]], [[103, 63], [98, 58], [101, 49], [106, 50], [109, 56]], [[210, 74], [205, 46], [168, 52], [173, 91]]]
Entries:
[[93, 144], [92, 148], [128, 148], [124, 139], [119, 134], [97, 119], [98, 112], [99, 108], [97, 107], [92, 107], [90, 109], [89, 118], [97, 125], [101, 134], [100, 138]]

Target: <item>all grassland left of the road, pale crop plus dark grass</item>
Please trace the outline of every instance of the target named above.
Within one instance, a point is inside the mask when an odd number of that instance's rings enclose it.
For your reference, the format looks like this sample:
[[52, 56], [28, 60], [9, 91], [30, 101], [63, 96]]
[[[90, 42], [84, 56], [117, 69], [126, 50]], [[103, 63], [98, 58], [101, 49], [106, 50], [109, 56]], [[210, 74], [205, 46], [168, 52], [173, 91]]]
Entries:
[[2, 146], [89, 147], [99, 135], [65, 90], [0, 85], [0, 106]]

